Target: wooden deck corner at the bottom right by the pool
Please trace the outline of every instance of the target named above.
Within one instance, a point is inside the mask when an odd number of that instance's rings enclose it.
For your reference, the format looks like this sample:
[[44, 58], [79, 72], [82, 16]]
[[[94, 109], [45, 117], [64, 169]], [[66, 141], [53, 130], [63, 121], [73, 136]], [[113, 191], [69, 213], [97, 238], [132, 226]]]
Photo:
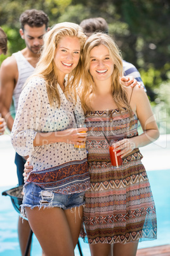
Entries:
[[154, 246], [138, 250], [136, 256], [170, 256], [170, 245]]

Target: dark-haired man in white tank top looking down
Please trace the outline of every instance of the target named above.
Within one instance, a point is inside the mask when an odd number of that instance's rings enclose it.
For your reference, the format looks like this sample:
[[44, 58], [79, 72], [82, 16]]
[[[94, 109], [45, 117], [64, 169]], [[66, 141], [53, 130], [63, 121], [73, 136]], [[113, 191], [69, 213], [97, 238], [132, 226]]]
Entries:
[[[26, 47], [1, 64], [0, 69], [0, 113], [6, 120], [8, 129], [13, 127], [13, 117], [10, 113], [12, 99], [15, 112], [18, 108], [18, 99], [22, 92], [25, 80], [32, 75], [39, 60], [43, 36], [48, 30], [48, 15], [41, 10], [26, 10], [20, 15], [20, 36], [25, 41]], [[23, 169], [25, 159], [16, 153], [15, 164], [18, 176], [18, 185], [23, 185]], [[18, 238], [22, 255], [25, 253], [30, 227], [27, 220], [18, 219]]]

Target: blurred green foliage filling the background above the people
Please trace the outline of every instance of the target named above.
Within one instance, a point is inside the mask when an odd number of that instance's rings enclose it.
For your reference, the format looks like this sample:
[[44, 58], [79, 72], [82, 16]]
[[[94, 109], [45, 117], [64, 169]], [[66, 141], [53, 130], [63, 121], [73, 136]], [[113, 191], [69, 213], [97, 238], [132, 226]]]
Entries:
[[[168, 0], [0, 0], [0, 25], [8, 35], [8, 54], [25, 47], [20, 38], [19, 17], [27, 9], [45, 11], [49, 25], [79, 24], [84, 18], [103, 17], [122, 56], [139, 69], [147, 94], [156, 111], [166, 108], [170, 80], [170, 2]], [[164, 89], [164, 93], [162, 92]], [[170, 124], [170, 122], [169, 122]], [[167, 125], [167, 129], [169, 126]], [[169, 131], [169, 130], [168, 130]]]

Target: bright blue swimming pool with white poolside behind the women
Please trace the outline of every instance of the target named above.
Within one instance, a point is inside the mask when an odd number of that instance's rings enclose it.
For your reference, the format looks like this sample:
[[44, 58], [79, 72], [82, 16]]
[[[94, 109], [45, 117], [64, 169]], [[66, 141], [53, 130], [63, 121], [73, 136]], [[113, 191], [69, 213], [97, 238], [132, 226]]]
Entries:
[[[10, 138], [0, 137], [1, 171], [3, 170], [0, 179], [0, 255], [19, 256], [21, 254], [17, 234], [18, 213], [13, 208], [10, 197], [1, 196], [4, 190], [16, 187], [16, 172], [13, 164], [15, 152]], [[168, 139], [162, 139], [160, 145], [148, 145], [141, 152], [144, 155], [143, 164], [148, 170], [148, 178], [154, 195], [158, 236], [157, 240], [140, 243], [138, 248], [167, 245], [170, 244], [170, 136]], [[83, 255], [90, 256], [88, 244], [82, 239], [79, 240]], [[41, 247], [34, 235], [31, 255], [42, 255]], [[75, 248], [75, 256], [79, 256], [78, 248]]]

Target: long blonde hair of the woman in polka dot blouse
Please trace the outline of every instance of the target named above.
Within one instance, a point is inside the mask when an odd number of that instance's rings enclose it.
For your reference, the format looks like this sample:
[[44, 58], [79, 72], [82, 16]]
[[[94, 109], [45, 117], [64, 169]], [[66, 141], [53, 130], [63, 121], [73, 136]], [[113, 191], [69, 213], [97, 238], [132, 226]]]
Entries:
[[46, 80], [46, 88], [48, 92], [49, 104], [60, 106], [60, 94], [57, 89], [57, 76], [55, 66], [55, 50], [58, 46], [58, 42], [63, 36], [76, 36], [81, 44], [81, 56], [79, 63], [74, 70], [68, 75], [68, 83], [66, 87], [66, 95], [71, 92], [74, 96], [73, 100], [76, 102], [76, 87], [81, 80], [82, 71], [82, 49], [86, 41], [86, 36], [82, 31], [82, 28], [71, 22], [62, 22], [53, 27], [44, 35], [44, 45], [42, 46], [41, 57], [37, 63], [33, 76], [41, 76]]

